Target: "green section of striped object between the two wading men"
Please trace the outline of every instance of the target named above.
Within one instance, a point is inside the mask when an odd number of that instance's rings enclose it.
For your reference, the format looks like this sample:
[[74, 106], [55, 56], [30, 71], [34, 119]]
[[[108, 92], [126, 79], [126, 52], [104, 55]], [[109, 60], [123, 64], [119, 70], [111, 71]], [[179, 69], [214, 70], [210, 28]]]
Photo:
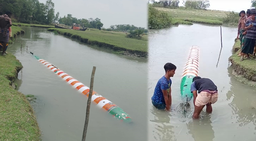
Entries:
[[181, 94], [181, 100], [183, 102], [185, 101], [189, 102], [193, 97], [193, 93], [190, 92], [190, 86], [192, 84], [192, 80], [194, 77], [195, 76], [193, 75], [186, 75], [181, 79], [180, 94]]

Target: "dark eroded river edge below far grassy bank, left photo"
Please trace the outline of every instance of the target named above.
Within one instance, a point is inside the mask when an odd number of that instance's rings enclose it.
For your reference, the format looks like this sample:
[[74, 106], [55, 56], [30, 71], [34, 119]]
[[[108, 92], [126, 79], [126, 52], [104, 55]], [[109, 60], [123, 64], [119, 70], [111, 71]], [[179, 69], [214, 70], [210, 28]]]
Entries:
[[61, 32], [60, 30], [58, 30], [56, 28], [49, 28], [47, 30], [51, 31], [51, 32], [58, 32], [61, 35], [69, 36], [73, 39], [77, 39], [78, 41], [89, 44], [89, 45], [97, 45], [98, 47], [111, 49], [111, 50], [113, 50], [113, 53], [115, 53], [115, 54], [123, 54], [123, 55], [126, 55], [126, 56], [139, 57], [139, 58], [147, 58], [148, 57], [148, 52], [147, 51], [131, 50], [131, 49], [118, 47], [118, 46], [108, 44], [108, 43], [104, 43], [104, 42], [93, 41], [93, 40], [90, 40], [88, 38], [83, 38], [80, 35], [76, 35], [76, 34], [73, 35], [70, 32]]

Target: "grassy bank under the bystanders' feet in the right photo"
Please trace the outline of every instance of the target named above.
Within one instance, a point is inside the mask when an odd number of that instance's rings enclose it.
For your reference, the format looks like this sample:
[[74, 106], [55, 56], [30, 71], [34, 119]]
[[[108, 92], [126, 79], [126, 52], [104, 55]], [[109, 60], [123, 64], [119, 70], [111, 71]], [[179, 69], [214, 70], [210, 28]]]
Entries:
[[232, 49], [233, 55], [229, 58], [234, 69], [233, 74], [240, 82], [256, 87], [256, 60], [239, 61], [240, 57], [237, 56], [239, 51], [240, 41], [236, 39]]

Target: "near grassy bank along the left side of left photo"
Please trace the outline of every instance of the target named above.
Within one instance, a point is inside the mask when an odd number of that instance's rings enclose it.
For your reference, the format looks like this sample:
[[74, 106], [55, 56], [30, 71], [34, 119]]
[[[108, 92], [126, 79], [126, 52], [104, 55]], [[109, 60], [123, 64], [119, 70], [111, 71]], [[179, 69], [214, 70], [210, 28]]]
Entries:
[[[10, 44], [22, 33], [25, 32], [20, 27], [12, 26]], [[0, 56], [0, 140], [41, 141], [35, 111], [25, 94], [15, 90], [17, 84], [14, 80], [22, 68], [21, 62], [13, 54]]]

